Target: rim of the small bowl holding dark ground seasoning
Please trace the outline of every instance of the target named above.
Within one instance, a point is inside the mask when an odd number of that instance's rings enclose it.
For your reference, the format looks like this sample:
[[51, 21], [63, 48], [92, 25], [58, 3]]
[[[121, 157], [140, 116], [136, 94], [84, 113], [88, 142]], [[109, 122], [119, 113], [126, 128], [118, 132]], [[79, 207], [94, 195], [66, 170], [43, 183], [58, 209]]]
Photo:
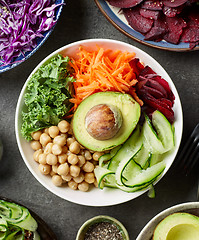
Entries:
[[115, 225], [117, 225], [121, 231], [123, 232], [123, 234], [125, 235], [126, 239], [125, 240], [129, 240], [129, 234], [128, 234], [128, 231], [127, 229], [125, 228], [125, 226], [119, 221], [117, 220], [116, 218], [114, 217], [111, 217], [111, 216], [107, 216], [107, 215], [98, 215], [98, 216], [95, 216], [95, 217], [92, 217], [88, 220], [86, 220], [79, 228], [78, 232], [77, 232], [77, 235], [76, 235], [76, 240], [81, 240], [81, 234], [82, 232], [86, 229], [88, 229], [90, 226], [92, 226], [93, 224], [95, 223], [99, 223], [99, 222], [104, 222], [104, 221], [107, 221], [107, 222], [112, 222], [114, 223]]

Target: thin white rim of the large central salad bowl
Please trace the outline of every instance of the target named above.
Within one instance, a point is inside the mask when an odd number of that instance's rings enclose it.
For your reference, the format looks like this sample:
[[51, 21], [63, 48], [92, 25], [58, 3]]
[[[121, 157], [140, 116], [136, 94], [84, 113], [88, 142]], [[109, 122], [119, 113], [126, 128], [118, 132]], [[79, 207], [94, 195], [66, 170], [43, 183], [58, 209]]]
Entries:
[[[63, 194], [61, 194], [60, 192], [58, 192], [58, 190], [55, 190], [53, 187], [50, 187], [49, 186], [49, 183], [47, 184], [44, 180], [42, 180], [42, 177], [40, 177], [35, 171], [34, 169], [32, 169], [30, 163], [28, 162], [28, 160], [26, 159], [26, 156], [22, 150], [22, 145], [21, 145], [21, 141], [20, 141], [20, 129], [18, 129], [18, 126], [19, 126], [19, 116], [20, 116], [20, 106], [21, 106], [21, 103], [22, 103], [22, 100], [23, 100], [23, 96], [25, 94], [25, 89], [27, 87], [27, 83], [28, 81], [30, 80], [30, 77], [32, 76], [32, 74], [34, 72], [37, 71], [37, 69], [42, 65], [44, 64], [48, 59], [50, 59], [51, 57], [53, 57], [54, 55], [62, 52], [63, 50], [66, 50], [66, 49], [70, 49], [70, 47], [74, 47], [74, 46], [80, 46], [81, 44], [90, 44], [90, 43], [101, 43], [101, 44], [106, 44], [106, 43], [111, 43], [111, 44], [119, 44], [125, 48], [131, 48], [132, 51], [137, 51], [136, 53], [139, 55], [140, 54], [143, 54], [145, 57], [147, 57], [148, 61], [150, 61], [151, 63], [154, 63], [155, 65], [158, 66], [158, 68], [162, 71], [162, 73], [166, 74], [167, 76], [167, 80], [169, 80], [169, 84], [172, 85], [172, 90], [174, 91], [174, 95], [176, 97], [176, 102], [178, 100], [178, 113], [179, 113], [179, 132], [180, 132], [180, 136], [178, 136], [178, 144], [176, 146], [176, 148], [174, 149], [174, 153], [175, 153], [175, 156], [174, 158], [172, 159], [172, 162], [166, 167], [165, 169], [165, 172], [163, 173], [163, 175], [158, 179], [158, 181], [166, 174], [166, 172], [168, 171], [168, 169], [171, 167], [176, 155], [177, 155], [177, 152], [179, 150], [179, 146], [180, 146], [180, 142], [181, 142], [181, 138], [182, 138], [182, 131], [183, 131], [183, 113], [182, 113], [182, 106], [181, 106], [181, 102], [180, 102], [180, 98], [179, 98], [179, 95], [178, 95], [178, 92], [175, 88], [175, 85], [173, 83], [173, 81], [171, 80], [171, 78], [169, 77], [169, 75], [167, 74], [167, 72], [164, 70], [164, 68], [153, 58], [151, 57], [148, 53], [144, 52], [143, 50], [131, 45], [131, 44], [128, 44], [128, 43], [125, 43], [125, 42], [122, 42], [122, 41], [118, 41], [118, 40], [113, 40], [113, 39], [102, 39], [102, 38], [94, 38], [94, 39], [85, 39], [85, 40], [80, 40], [80, 41], [77, 41], [77, 42], [73, 42], [73, 43], [70, 43], [70, 44], [67, 44], [57, 50], [55, 50], [54, 52], [52, 52], [51, 54], [49, 54], [47, 57], [45, 57], [34, 69], [33, 71], [30, 73], [29, 77], [27, 78], [22, 90], [21, 90], [21, 93], [19, 95], [19, 98], [18, 98], [18, 101], [17, 101], [17, 107], [16, 107], [16, 112], [15, 112], [15, 134], [16, 134], [16, 139], [17, 139], [17, 145], [18, 145], [18, 148], [19, 148], [19, 151], [21, 153], [21, 156], [26, 164], [26, 166], [28, 167], [29, 171], [33, 174], [33, 176], [37, 179], [37, 181], [39, 181], [47, 190], [51, 191], [52, 193], [54, 193], [55, 195], [65, 199], [65, 200], [68, 200], [68, 201], [71, 201], [73, 203], [77, 203], [77, 204], [80, 204], [80, 205], [86, 205], [86, 206], [111, 206], [111, 205], [116, 205], [116, 204], [121, 204], [121, 203], [124, 203], [124, 202], [127, 202], [127, 201], [130, 201], [134, 198], [137, 198], [138, 196], [142, 195], [143, 193], [145, 193], [148, 189], [145, 189], [145, 190], [142, 190], [142, 191], [139, 191], [136, 193], [136, 196], [132, 197], [132, 195], [130, 195], [129, 193], [125, 193], [125, 192], [122, 192], [122, 194], [124, 195], [122, 199], [120, 199], [120, 201], [118, 201], [117, 199], [112, 199], [111, 201], [107, 198], [104, 200], [103, 203], [99, 203], [98, 200], [96, 199], [95, 201], [92, 201], [91, 199], [87, 199], [87, 200], [82, 200], [83, 198], [80, 197], [80, 199], [76, 199], [74, 201], [74, 197], [69, 197], [68, 195], [67, 196], [63, 196]], [[95, 43], [96, 44], [96, 43]], [[96, 44], [97, 45], [97, 44]], [[173, 153], [172, 153], [173, 154]], [[46, 177], [46, 176], [45, 176]], [[157, 182], [158, 182], [157, 181]], [[156, 182], [156, 183], [157, 183]], [[100, 191], [100, 189], [97, 189]], [[121, 193], [121, 190], [119, 189], [116, 189], [118, 190], [120, 193]], [[115, 190], [115, 191], [116, 191]]]

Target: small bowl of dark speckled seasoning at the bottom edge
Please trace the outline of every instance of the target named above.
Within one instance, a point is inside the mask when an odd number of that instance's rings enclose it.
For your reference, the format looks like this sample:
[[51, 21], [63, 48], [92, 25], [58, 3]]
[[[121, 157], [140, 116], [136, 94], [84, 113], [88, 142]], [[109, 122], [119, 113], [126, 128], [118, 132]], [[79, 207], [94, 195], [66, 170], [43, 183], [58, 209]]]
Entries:
[[126, 228], [117, 219], [96, 216], [87, 220], [79, 229], [76, 240], [129, 240]]

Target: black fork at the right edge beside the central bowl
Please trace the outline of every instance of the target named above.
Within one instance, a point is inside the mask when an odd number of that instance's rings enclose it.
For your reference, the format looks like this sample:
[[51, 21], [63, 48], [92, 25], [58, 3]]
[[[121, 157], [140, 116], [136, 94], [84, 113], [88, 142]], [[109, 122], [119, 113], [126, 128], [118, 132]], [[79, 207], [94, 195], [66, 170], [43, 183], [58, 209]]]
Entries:
[[[189, 175], [199, 165], [199, 123], [188, 138], [176, 163], [185, 175]], [[197, 200], [199, 200], [199, 182]]]

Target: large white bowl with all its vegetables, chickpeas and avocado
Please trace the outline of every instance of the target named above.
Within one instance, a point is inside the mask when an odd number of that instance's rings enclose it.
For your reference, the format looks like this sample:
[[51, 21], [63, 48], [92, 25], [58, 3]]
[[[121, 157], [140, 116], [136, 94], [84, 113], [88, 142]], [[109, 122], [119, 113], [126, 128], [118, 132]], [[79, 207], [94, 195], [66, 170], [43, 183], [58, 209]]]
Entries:
[[66, 200], [106, 206], [147, 190], [154, 196], [180, 145], [182, 108], [152, 57], [91, 39], [58, 49], [33, 70], [15, 124], [38, 181]]

